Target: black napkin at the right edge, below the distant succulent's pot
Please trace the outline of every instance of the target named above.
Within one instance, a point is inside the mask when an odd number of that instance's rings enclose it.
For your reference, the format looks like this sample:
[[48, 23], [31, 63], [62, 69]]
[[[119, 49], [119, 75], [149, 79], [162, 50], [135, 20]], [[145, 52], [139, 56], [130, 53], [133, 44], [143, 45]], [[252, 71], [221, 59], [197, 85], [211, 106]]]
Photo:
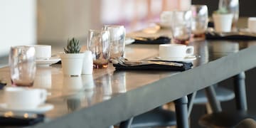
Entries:
[[206, 33], [206, 39], [208, 40], [256, 40], [256, 36], [250, 35], [232, 35], [232, 36], [220, 36], [218, 34]]

